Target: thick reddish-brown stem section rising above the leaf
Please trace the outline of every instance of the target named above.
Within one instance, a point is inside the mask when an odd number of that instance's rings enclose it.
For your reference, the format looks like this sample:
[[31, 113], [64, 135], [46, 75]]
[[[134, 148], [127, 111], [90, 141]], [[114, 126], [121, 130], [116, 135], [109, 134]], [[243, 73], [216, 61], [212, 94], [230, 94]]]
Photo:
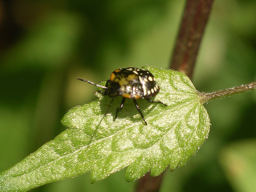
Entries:
[[213, 0], [188, 0], [183, 13], [170, 68], [185, 73], [190, 79], [212, 2]]

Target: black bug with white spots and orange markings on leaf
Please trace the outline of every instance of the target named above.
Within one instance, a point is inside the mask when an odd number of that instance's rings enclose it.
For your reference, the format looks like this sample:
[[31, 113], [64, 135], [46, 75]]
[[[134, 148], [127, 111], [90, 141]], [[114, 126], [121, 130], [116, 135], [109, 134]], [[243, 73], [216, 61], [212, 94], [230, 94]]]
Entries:
[[164, 106], [167, 106], [161, 101], [153, 101], [150, 99], [151, 97], [153, 97], [159, 92], [160, 88], [156, 83], [156, 79], [152, 75], [152, 73], [144, 69], [133, 68], [133, 67], [116, 69], [111, 73], [110, 79], [107, 80], [105, 86], [100, 84], [95, 84], [88, 80], [84, 80], [80, 78], [77, 78], [77, 79], [80, 81], [85, 81], [87, 83], [93, 84], [97, 87], [101, 87], [104, 89], [104, 92], [102, 91], [98, 91], [98, 92], [100, 92], [102, 95], [108, 95], [109, 97], [113, 97], [113, 99], [110, 101], [108, 105], [107, 111], [104, 116], [107, 115], [108, 109], [111, 106], [113, 100], [119, 95], [122, 96], [123, 99], [121, 101], [120, 107], [116, 109], [115, 119], [117, 117], [117, 113], [121, 111], [122, 108], [124, 107], [124, 101], [126, 98], [133, 100], [133, 103], [136, 109], [140, 113], [140, 116], [146, 125], [147, 125], [147, 122], [136, 101], [137, 99], [142, 98], [142, 99], [148, 100], [151, 103], [161, 103]]

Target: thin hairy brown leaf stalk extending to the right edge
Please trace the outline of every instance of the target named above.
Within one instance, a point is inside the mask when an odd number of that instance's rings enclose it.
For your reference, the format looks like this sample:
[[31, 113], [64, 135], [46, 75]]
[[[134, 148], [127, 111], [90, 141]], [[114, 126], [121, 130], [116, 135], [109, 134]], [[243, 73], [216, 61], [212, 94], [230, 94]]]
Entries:
[[200, 94], [202, 96], [201, 102], [205, 103], [213, 99], [218, 99], [218, 98], [227, 97], [230, 95], [234, 95], [234, 94], [238, 94], [246, 91], [251, 91], [252, 89], [256, 89], [256, 81], [245, 84], [245, 85], [240, 85], [233, 88], [225, 89], [225, 90], [215, 91], [212, 93], [201, 93]]

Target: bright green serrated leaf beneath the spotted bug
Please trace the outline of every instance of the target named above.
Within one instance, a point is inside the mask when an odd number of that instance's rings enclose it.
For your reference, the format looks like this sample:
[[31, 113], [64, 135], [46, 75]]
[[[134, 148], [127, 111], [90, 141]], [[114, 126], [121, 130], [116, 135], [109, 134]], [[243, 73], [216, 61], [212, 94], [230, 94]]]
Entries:
[[210, 129], [201, 96], [186, 75], [146, 68], [160, 86], [155, 100], [168, 105], [139, 99], [147, 126], [131, 100], [125, 102], [114, 121], [122, 97], [114, 100], [104, 117], [111, 98], [97, 94], [99, 99], [67, 112], [61, 120], [69, 127], [66, 131], [2, 172], [0, 191], [27, 191], [89, 171], [94, 182], [124, 167], [126, 180], [133, 181], [148, 171], [157, 176], [168, 165], [171, 170], [184, 165]]

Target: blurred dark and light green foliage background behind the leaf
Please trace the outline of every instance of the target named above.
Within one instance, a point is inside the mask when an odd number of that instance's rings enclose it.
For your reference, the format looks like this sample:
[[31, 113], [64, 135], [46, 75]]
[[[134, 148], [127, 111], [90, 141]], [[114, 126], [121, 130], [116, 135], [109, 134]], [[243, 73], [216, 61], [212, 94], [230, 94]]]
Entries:
[[[0, 171], [66, 128], [69, 108], [95, 99], [76, 80], [116, 68], [167, 68], [182, 0], [0, 0]], [[256, 80], [256, 1], [215, 0], [193, 83], [211, 92]], [[256, 91], [205, 107], [208, 140], [186, 166], [165, 172], [161, 192], [255, 191]], [[31, 191], [132, 191], [124, 171], [91, 184], [89, 173]]]

